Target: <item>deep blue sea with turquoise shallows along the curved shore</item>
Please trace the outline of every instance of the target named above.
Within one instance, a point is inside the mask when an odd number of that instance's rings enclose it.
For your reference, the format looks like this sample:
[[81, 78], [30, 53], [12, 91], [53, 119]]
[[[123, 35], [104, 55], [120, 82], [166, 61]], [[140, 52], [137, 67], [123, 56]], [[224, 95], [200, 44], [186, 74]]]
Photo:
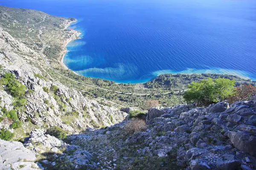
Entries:
[[145, 82], [163, 73], [228, 73], [256, 79], [255, 0], [1, 0], [75, 17], [81, 39], [64, 63], [76, 73]]

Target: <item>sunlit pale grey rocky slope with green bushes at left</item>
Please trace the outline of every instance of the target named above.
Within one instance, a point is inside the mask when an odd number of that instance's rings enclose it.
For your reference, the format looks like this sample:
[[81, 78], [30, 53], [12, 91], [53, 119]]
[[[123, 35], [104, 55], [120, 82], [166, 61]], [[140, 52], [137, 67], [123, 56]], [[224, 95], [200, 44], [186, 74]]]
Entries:
[[[58, 126], [68, 133], [78, 133], [88, 127], [113, 125], [125, 118], [126, 113], [116, 108], [99, 105], [96, 101], [84, 98], [74, 88], [45, 79], [38, 68], [26, 62], [28, 54], [35, 58], [39, 54], [1, 28], [0, 49], [0, 126], [9, 129], [14, 123], [8, 120], [9, 111], [12, 110], [26, 124], [14, 130], [15, 139], [24, 138], [26, 133], [30, 133], [31, 129], [27, 129], [29, 126]], [[12, 73], [15, 78], [8, 78], [6, 73]], [[24, 89], [20, 88], [22, 85]], [[15, 95], [12, 90], [17, 93], [24, 91], [24, 95]]]

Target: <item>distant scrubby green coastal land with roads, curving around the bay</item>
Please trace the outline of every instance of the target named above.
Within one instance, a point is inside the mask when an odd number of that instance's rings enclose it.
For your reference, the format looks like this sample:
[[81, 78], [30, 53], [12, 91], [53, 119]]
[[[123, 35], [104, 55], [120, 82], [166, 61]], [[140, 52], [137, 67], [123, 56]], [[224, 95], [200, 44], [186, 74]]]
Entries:
[[[65, 44], [79, 35], [77, 31], [66, 29], [72, 21], [74, 18], [55, 17], [41, 11], [0, 6], [0, 26], [16, 40], [41, 54], [26, 54], [26, 59], [29, 64], [41, 70], [44, 77], [81, 89], [84, 96], [89, 98], [111, 100], [112, 104], [143, 108], [148, 99], [160, 99], [159, 94], [162, 91], [157, 89], [137, 89], [136, 85], [82, 77], [64, 67], [61, 58]], [[169, 98], [172, 100], [168, 100]], [[182, 102], [182, 97], [177, 94], [163, 94], [161, 100], [163, 104], [173, 105]]]

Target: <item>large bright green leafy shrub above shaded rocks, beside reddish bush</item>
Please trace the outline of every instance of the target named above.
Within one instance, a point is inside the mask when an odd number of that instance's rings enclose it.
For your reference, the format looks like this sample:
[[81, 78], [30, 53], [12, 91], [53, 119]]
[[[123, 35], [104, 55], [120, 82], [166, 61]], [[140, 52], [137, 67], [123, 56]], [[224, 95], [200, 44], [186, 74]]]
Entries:
[[189, 89], [184, 92], [183, 97], [187, 102], [199, 102], [201, 105], [208, 105], [233, 96], [234, 86], [234, 80], [208, 78], [201, 80], [201, 82], [189, 84]]

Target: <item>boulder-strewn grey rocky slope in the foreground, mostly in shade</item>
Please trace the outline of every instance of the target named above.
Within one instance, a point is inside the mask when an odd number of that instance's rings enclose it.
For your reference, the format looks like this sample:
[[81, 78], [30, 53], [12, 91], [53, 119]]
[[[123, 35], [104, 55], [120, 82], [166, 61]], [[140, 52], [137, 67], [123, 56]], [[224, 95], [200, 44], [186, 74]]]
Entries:
[[[207, 108], [152, 108], [145, 129], [136, 133], [125, 130], [131, 121], [89, 128], [63, 141], [33, 130], [24, 142], [27, 149], [20, 146], [31, 161], [13, 158], [4, 167], [35, 166], [33, 153], [44, 169], [256, 169], [256, 100], [219, 102]], [[12, 142], [0, 141], [0, 148], [3, 144], [12, 151]], [[3, 158], [5, 154], [0, 152]]]

